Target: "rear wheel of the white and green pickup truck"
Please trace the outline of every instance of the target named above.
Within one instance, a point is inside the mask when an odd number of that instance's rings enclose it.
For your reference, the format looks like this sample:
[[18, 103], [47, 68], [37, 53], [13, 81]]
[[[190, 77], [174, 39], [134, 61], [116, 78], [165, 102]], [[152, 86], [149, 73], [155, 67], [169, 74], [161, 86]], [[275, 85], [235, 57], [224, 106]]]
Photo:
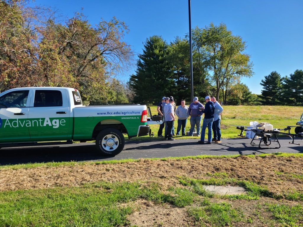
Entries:
[[124, 147], [125, 140], [123, 134], [115, 128], [107, 128], [99, 132], [96, 138], [96, 148], [103, 155], [115, 156]]

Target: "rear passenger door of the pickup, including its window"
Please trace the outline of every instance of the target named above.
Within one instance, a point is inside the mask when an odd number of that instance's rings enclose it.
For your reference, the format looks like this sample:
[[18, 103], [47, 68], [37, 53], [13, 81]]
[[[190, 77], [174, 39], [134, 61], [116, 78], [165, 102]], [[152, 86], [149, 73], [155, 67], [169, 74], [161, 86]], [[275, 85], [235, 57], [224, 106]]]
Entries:
[[31, 139], [65, 140], [69, 130], [69, 103], [64, 89], [35, 89], [28, 112]]

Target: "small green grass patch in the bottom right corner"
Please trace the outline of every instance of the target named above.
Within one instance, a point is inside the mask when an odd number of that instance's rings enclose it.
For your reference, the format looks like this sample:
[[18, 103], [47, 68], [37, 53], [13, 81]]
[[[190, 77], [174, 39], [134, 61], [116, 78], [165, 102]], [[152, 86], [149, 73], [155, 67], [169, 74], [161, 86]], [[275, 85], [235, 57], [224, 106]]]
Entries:
[[[301, 205], [266, 204], [266, 206], [272, 212], [273, 217], [282, 223], [282, 226], [302, 226], [303, 207]], [[298, 222], [301, 222], [301, 224], [298, 225]]]

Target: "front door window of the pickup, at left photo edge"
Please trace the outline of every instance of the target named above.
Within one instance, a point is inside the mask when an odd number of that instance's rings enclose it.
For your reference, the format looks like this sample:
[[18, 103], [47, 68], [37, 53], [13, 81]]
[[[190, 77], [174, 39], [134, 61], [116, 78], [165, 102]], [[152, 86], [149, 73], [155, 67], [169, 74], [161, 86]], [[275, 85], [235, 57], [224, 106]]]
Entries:
[[0, 97], [0, 108], [26, 107], [29, 90], [12, 91]]

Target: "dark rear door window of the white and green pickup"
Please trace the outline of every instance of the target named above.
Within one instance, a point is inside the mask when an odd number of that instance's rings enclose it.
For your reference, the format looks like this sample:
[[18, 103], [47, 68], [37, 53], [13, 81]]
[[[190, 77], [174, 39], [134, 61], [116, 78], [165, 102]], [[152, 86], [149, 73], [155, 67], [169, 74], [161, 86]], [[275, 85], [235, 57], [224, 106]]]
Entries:
[[36, 90], [34, 107], [62, 107], [62, 93], [59, 90]]

